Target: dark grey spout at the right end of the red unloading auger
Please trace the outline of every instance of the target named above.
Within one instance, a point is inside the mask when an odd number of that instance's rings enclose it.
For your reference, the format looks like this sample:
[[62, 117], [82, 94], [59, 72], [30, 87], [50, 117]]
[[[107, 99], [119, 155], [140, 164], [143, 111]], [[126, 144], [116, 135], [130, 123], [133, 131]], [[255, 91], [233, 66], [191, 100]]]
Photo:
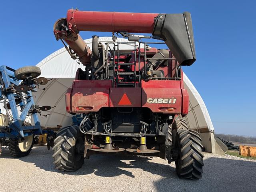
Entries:
[[196, 60], [192, 20], [189, 12], [183, 14], [159, 14], [153, 35], [163, 39], [182, 66], [190, 66]]

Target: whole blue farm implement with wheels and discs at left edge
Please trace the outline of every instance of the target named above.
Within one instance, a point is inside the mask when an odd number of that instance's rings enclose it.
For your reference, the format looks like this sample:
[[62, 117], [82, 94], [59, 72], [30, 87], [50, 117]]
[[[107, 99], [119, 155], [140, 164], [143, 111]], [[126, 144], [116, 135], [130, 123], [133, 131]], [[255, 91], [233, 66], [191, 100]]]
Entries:
[[12, 156], [26, 156], [35, 136], [46, 133], [48, 140], [54, 138], [52, 130], [42, 130], [38, 116], [50, 106], [40, 107], [34, 102], [37, 86], [47, 83], [46, 78], [37, 78], [40, 74], [40, 68], [36, 66], [18, 70], [0, 66], [0, 101], [5, 109], [5, 112], [4, 109], [0, 111], [0, 152], [4, 145], [9, 147]]

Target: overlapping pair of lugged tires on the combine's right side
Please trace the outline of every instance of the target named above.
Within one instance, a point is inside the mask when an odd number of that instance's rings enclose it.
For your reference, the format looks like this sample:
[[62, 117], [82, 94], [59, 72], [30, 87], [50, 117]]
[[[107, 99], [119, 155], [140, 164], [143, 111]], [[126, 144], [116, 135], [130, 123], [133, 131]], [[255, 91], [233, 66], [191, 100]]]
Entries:
[[182, 179], [199, 180], [202, 178], [204, 166], [199, 133], [188, 130], [186, 121], [179, 117], [175, 119], [172, 129], [174, 150], [178, 153], [175, 160], [178, 176]]

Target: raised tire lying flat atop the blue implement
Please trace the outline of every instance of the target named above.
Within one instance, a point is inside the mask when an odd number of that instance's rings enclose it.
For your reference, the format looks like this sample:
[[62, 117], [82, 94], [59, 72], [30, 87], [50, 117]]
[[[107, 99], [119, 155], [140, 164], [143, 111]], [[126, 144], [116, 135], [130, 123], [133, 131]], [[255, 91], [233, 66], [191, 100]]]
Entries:
[[25, 80], [27, 77], [36, 78], [40, 76], [41, 70], [37, 66], [26, 66], [15, 70], [14, 76], [19, 80]]

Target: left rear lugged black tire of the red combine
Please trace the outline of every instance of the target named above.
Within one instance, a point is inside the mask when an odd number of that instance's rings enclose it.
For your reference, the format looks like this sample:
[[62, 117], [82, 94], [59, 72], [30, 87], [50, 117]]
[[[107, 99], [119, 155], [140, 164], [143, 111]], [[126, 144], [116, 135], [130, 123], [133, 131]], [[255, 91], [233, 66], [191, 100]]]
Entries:
[[79, 127], [62, 128], [52, 148], [55, 168], [60, 171], [76, 171], [84, 164], [84, 134]]

